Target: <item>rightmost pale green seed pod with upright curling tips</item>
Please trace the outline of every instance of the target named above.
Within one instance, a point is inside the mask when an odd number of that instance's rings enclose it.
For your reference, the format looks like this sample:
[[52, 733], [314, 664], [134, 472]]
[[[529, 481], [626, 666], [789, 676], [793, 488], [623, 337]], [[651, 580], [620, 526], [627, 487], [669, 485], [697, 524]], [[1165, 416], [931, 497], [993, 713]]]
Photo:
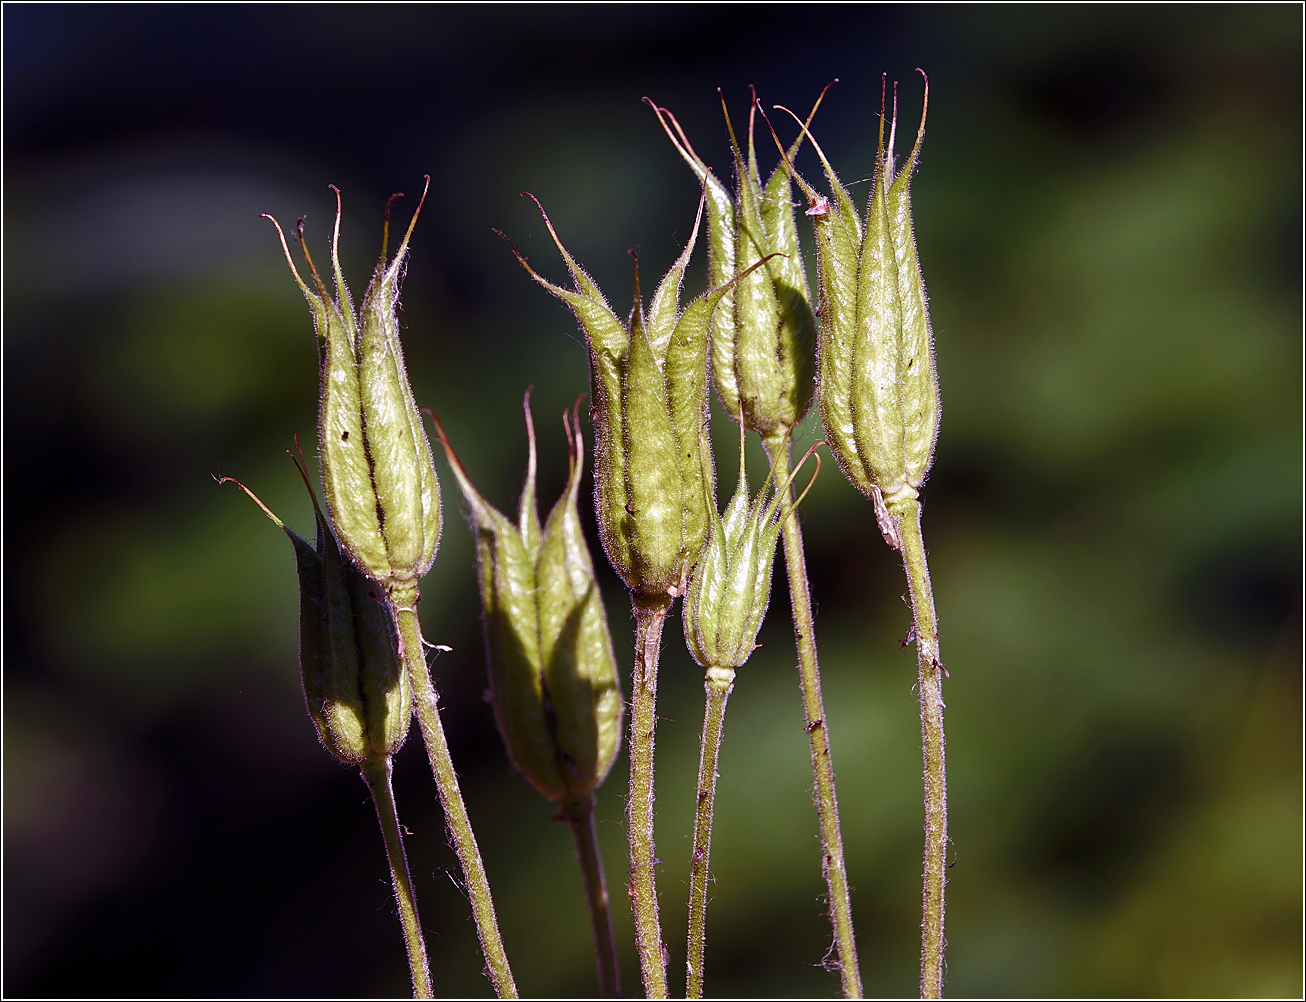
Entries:
[[[812, 146], [833, 197], [798, 179], [810, 201], [807, 216], [816, 231], [820, 261], [816, 381], [821, 419], [831, 452], [845, 476], [875, 499], [882, 526], [885, 502], [918, 495], [939, 432], [939, 379], [909, 189], [925, 138], [929, 98], [926, 81], [916, 145], [897, 172], [896, 86], [887, 146], [882, 108], [865, 222], [815, 140]], [[889, 533], [885, 536], [895, 543]]]

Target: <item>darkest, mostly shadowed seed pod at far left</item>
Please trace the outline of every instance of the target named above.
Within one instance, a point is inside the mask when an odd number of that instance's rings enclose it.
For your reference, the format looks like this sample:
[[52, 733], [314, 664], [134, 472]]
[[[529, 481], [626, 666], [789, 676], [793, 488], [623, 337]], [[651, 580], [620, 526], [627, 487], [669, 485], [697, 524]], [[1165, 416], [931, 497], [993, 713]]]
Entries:
[[253, 498], [295, 547], [299, 671], [317, 738], [346, 764], [387, 759], [404, 745], [413, 712], [413, 692], [400, 660], [388, 598], [343, 557], [312, 487], [308, 495], [317, 520], [316, 547], [287, 528], [243, 483], [231, 482]]

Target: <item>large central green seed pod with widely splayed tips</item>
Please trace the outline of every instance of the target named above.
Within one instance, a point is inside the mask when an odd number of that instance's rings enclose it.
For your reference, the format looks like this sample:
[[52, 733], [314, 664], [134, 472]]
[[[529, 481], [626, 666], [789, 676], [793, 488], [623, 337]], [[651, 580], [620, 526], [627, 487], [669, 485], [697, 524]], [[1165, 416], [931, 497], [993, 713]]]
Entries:
[[636, 265], [635, 307], [624, 324], [567, 253], [547, 216], [545, 225], [575, 291], [542, 278], [513, 247], [522, 268], [571, 307], [585, 332], [599, 538], [627, 587], [649, 597], [684, 593], [707, 541], [716, 481], [708, 439], [708, 325], [727, 290], [712, 289], [678, 314], [701, 219], [700, 202], [690, 242], [648, 314]]

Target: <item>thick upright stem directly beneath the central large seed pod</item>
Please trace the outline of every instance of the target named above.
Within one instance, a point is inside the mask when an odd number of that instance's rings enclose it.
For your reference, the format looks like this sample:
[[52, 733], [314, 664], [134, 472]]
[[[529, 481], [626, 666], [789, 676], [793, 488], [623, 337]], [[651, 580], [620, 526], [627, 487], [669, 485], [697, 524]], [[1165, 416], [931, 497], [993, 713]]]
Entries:
[[648, 998], [666, 998], [666, 947], [657, 914], [657, 857], [653, 848], [653, 730], [657, 726], [657, 661], [669, 597], [631, 592], [635, 611], [635, 670], [631, 682], [631, 790], [627, 824], [631, 840], [631, 911], [635, 943]]

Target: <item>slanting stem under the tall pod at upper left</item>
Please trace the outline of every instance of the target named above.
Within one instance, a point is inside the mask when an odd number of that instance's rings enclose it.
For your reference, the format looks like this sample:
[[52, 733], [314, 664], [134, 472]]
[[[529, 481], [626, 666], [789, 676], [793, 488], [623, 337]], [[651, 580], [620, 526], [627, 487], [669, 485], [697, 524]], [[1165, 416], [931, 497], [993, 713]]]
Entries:
[[440, 724], [440, 707], [426, 664], [426, 651], [422, 647], [422, 624], [418, 622], [417, 610], [411, 607], [414, 604], [415, 601], [396, 602], [393, 607], [404, 664], [413, 685], [418, 725], [422, 728], [426, 754], [431, 760], [444, 820], [449, 826], [453, 848], [462, 865], [465, 890], [471, 901], [471, 913], [477, 921], [477, 935], [481, 937], [481, 951], [485, 954], [490, 981], [499, 998], [517, 998], [517, 985], [512, 980], [508, 956], [503, 950], [503, 937], [499, 935], [499, 920], [494, 913], [486, 867], [481, 861], [481, 849], [477, 848], [477, 836], [471, 831], [468, 809], [462, 803], [462, 793], [458, 790], [458, 775], [453, 771], [449, 742]]

